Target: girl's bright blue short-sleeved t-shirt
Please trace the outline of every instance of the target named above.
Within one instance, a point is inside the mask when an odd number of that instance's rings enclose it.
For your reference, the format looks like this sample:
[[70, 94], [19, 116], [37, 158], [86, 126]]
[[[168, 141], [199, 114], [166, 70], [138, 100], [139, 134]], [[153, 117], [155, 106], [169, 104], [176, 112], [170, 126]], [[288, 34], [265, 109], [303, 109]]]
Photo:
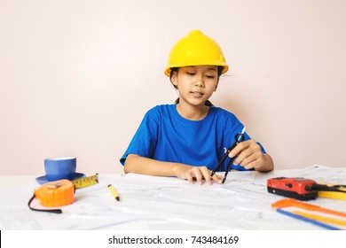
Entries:
[[[138, 154], [213, 170], [224, 157], [224, 147], [235, 142], [242, 128], [232, 112], [219, 107], [209, 107], [208, 115], [202, 120], [186, 120], [177, 112], [177, 105], [157, 105], [145, 113], [120, 162], [124, 165], [129, 154]], [[245, 133], [245, 140], [248, 139]], [[261, 148], [265, 152], [262, 145]], [[219, 171], [226, 170], [227, 162], [228, 159]], [[247, 170], [240, 166], [232, 169]]]

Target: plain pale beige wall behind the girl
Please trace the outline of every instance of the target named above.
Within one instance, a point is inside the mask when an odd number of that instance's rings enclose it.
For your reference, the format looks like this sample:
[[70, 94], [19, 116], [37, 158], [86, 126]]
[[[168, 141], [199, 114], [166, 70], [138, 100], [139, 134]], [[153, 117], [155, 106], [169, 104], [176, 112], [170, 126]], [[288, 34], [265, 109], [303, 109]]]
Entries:
[[177, 97], [169, 50], [201, 29], [230, 65], [211, 101], [276, 168], [345, 167], [344, 0], [0, 0], [0, 174], [77, 157], [122, 172], [145, 112]]

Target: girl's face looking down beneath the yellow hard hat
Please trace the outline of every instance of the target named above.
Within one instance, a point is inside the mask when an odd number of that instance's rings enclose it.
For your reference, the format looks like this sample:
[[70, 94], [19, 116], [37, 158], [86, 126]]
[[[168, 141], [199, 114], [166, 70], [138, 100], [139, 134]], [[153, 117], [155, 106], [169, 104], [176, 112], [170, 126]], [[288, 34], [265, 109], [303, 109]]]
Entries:
[[179, 103], [204, 105], [217, 88], [217, 66], [180, 67], [171, 81], [179, 91]]

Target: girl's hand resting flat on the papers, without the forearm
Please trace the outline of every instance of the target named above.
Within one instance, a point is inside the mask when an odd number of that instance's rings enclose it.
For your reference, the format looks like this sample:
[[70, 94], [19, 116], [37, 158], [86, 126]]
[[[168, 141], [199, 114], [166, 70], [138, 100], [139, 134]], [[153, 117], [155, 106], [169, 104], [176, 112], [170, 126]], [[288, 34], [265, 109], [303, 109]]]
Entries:
[[208, 184], [211, 184], [213, 181], [216, 183], [222, 183], [222, 177], [217, 174], [211, 176], [211, 172], [207, 167], [193, 167], [180, 164], [175, 167], [174, 171], [177, 178], [185, 179], [190, 183], [197, 181], [202, 184], [203, 180], [205, 180]]

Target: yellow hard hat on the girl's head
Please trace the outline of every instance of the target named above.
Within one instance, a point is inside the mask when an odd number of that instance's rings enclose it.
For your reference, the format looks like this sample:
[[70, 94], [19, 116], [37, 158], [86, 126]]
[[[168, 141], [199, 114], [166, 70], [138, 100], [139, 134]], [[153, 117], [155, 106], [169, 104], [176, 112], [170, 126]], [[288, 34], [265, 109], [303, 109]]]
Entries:
[[164, 73], [169, 76], [171, 68], [182, 66], [223, 66], [222, 74], [228, 71], [221, 48], [200, 30], [191, 31], [174, 45]]

